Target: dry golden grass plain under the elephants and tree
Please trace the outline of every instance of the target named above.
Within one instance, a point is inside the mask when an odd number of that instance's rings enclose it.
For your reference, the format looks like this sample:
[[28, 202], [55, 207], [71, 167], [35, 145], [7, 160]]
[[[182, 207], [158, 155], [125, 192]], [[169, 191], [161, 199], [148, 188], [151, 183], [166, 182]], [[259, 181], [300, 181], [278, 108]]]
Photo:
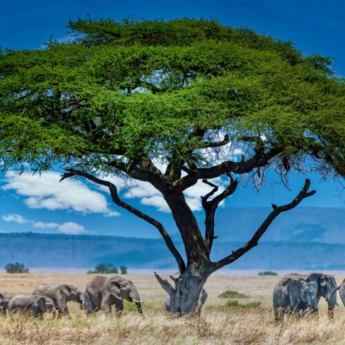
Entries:
[[[0, 275], [0, 291], [32, 293], [43, 283], [72, 283], [83, 289], [90, 277]], [[345, 344], [345, 308], [336, 308], [335, 318], [329, 320], [324, 299], [318, 317], [292, 317], [275, 324], [269, 309], [279, 277], [210, 277], [205, 286], [208, 300], [200, 317], [166, 316], [162, 308], [166, 293], [153, 275], [126, 278], [137, 285], [144, 317], [130, 306], [121, 317], [106, 317], [102, 312], [86, 317], [77, 304], [70, 303], [71, 319], [0, 317], [0, 344]], [[342, 279], [337, 277], [337, 282]], [[237, 299], [239, 306], [227, 306], [229, 299], [218, 297], [225, 290], [249, 297]], [[262, 304], [242, 306], [250, 302]]]

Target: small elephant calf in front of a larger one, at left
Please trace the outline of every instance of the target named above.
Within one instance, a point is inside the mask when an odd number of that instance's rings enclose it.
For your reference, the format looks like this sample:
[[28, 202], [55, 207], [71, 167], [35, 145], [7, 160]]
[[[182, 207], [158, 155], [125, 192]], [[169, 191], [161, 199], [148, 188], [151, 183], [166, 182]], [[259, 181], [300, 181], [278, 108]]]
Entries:
[[56, 309], [52, 299], [40, 295], [15, 295], [8, 302], [10, 313], [21, 312], [30, 313], [34, 317], [43, 317], [43, 313], [48, 311], [56, 314]]

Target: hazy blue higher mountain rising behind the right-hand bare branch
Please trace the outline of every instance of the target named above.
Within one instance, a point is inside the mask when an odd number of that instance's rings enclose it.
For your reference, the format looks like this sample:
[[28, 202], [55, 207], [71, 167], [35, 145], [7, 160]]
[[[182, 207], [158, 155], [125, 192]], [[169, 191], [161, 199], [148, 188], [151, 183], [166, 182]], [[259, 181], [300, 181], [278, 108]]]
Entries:
[[[272, 208], [218, 208], [215, 235], [218, 242], [246, 241]], [[200, 228], [204, 219], [199, 218]], [[175, 237], [179, 239], [179, 234]], [[345, 244], [345, 208], [297, 207], [279, 215], [261, 241]]]

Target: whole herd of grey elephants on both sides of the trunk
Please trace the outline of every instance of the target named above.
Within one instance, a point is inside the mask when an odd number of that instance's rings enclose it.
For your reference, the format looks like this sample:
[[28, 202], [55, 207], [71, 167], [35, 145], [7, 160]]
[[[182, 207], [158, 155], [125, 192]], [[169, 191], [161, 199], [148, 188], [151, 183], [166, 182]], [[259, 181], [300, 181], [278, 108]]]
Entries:
[[[334, 308], [337, 305], [337, 290], [345, 306], [345, 279], [337, 286], [332, 275], [323, 273], [311, 273], [309, 275], [297, 275], [292, 273], [283, 277], [273, 290], [273, 308], [275, 320], [282, 321], [284, 315], [295, 313], [302, 316], [306, 313], [317, 313], [318, 303], [321, 297], [328, 304], [328, 315], [333, 317]], [[197, 313], [207, 298], [203, 289], [197, 302]], [[61, 315], [69, 315], [67, 302], [77, 302], [81, 309], [85, 309], [86, 315], [103, 311], [110, 313], [112, 306], [121, 313], [124, 309], [124, 299], [135, 302], [137, 311], [143, 313], [141, 301], [135, 284], [130, 280], [119, 276], [93, 277], [86, 284], [85, 291], [72, 284], [48, 285], [43, 284], [34, 289], [32, 295], [12, 296], [6, 292], [0, 292], [0, 314], [6, 315], [19, 311], [30, 313], [35, 317], [42, 317], [43, 313], [51, 312]], [[165, 311], [170, 310], [170, 301], [167, 297], [164, 304]]]

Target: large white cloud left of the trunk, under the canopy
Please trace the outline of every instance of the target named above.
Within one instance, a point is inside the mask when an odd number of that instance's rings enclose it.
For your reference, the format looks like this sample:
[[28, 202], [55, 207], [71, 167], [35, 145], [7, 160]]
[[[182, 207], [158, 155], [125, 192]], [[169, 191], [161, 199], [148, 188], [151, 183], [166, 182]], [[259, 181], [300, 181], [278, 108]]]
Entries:
[[106, 197], [91, 190], [76, 179], [59, 182], [58, 172], [43, 172], [32, 175], [23, 172], [21, 175], [12, 171], [6, 173], [3, 190], [16, 190], [17, 194], [26, 197], [29, 208], [46, 208], [48, 210], [75, 210], [81, 213], [103, 213], [119, 215], [108, 208]]

